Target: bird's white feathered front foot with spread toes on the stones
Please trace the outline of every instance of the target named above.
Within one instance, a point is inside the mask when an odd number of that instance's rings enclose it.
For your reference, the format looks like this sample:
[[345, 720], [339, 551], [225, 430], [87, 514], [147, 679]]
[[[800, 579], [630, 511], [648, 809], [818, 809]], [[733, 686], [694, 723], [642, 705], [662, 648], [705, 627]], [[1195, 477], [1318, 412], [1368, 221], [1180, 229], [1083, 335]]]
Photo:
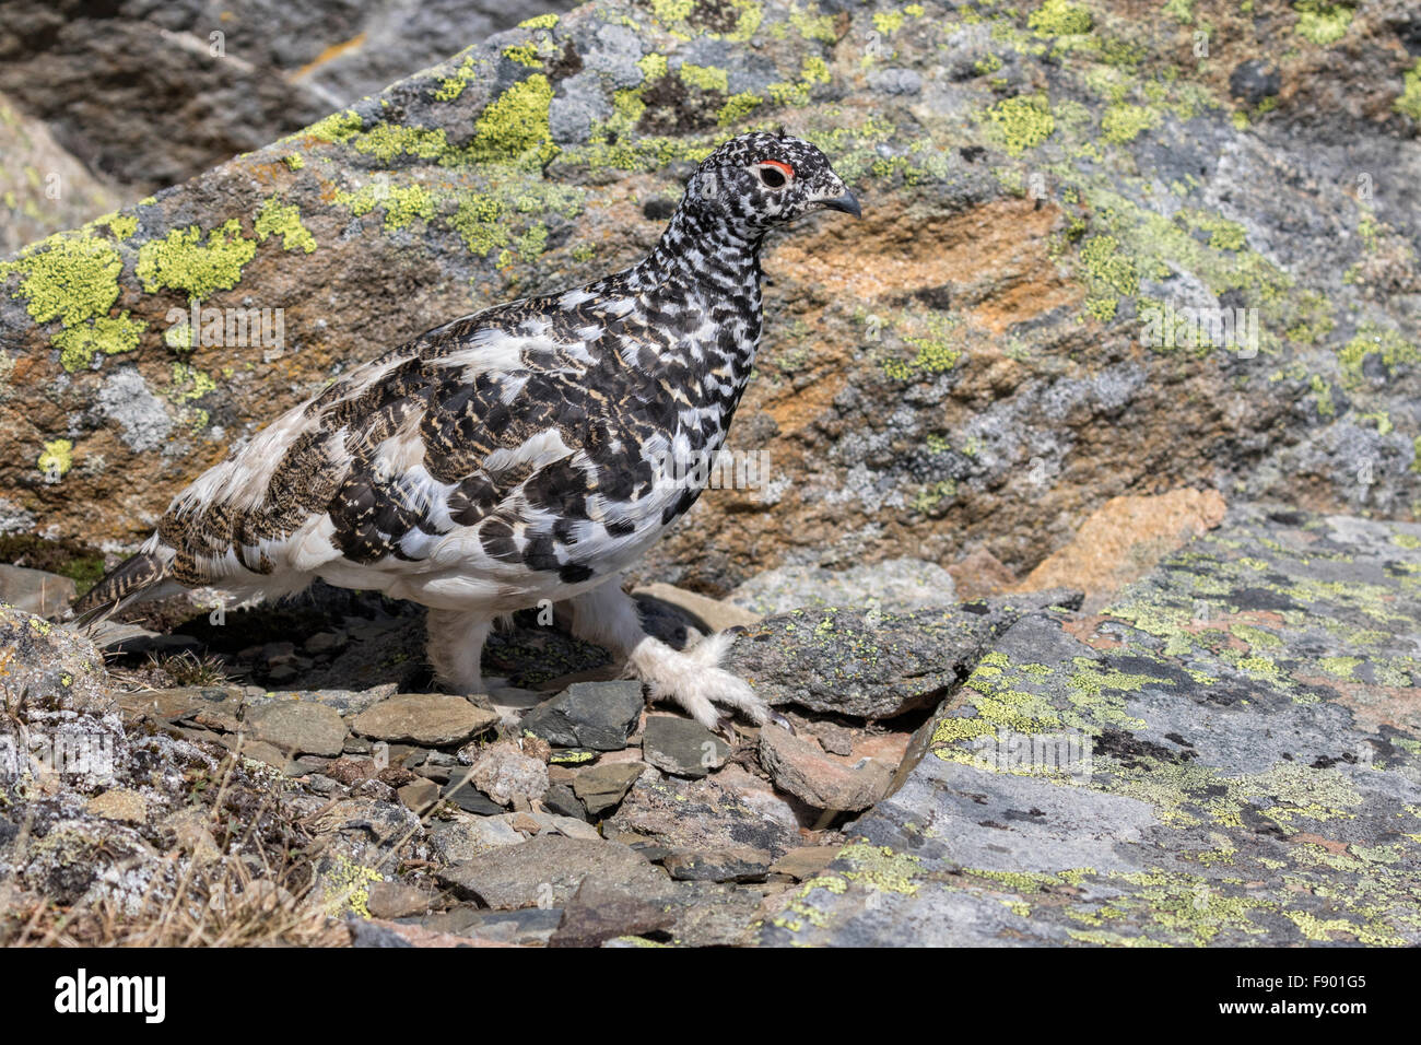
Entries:
[[779, 721], [749, 684], [719, 667], [735, 634], [718, 631], [689, 650], [672, 650], [655, 638], [644, 640], [631, 654], [628, 672], [651, 688], [652, 700], [669, 701], [712, 732], [722, 727], [716, 705], [739, 711], [756, 725]]

